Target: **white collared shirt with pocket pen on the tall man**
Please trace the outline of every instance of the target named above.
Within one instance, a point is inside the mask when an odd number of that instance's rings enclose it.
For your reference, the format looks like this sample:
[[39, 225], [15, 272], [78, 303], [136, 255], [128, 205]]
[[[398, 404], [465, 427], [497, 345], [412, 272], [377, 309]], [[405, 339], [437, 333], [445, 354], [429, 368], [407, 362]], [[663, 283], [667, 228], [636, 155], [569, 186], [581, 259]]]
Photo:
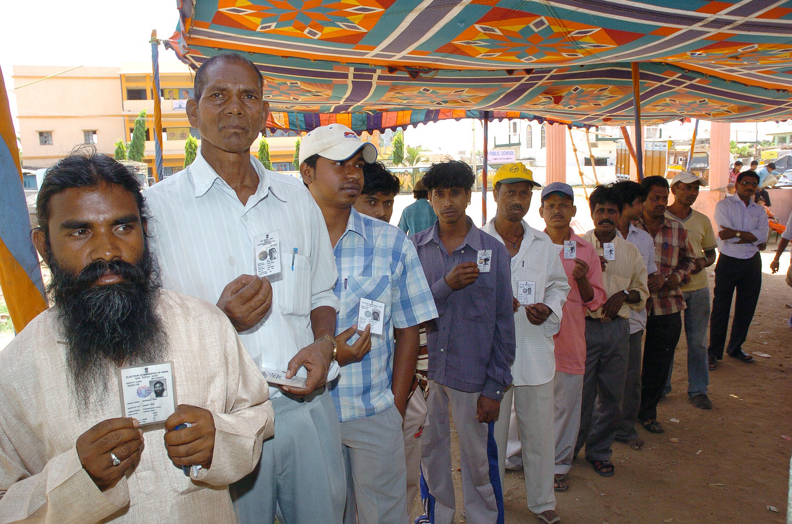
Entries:
[[[259, 369], [286, 370], [314, 341], [311, 310], [338, 310], [337, 269], [322, 212], [303, 183], [250, 161], [259, 184], [245, 205], [200, 152], [187, 169], [147, 189], [150, 246], [167, 289], [216, 304], [232, 280], [256, 275], [254, 238], [276, 232], [281, 271], [268, 276], [272, 307], [239, 336]], [[306, 374], [300, 368], [298, 375]], [[337, 375], [333, 362], [328, 380]], [[271, 387], [270, 397], [278, 396], [280, 389]]]

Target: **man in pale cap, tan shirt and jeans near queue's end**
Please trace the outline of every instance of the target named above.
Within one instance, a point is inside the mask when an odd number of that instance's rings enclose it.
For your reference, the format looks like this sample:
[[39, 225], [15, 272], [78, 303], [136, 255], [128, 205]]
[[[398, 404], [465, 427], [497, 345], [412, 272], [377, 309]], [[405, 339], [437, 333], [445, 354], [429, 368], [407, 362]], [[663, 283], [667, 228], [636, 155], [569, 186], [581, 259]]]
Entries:
[[[684, 309], [685, 338], [687, 339], [687, 397], [696, 408], [711, 409], [712, 402], [707, 397], [710, 372], [707, 368], [706, 332], [710, 325], [710, 286], [706, 271], [715, 263], [715, 248], [718, 241], [712, 230], [710, 219], [691, 206], [699, 196], [703, 180], [693, 173], [683, 171], [671, 181], [672, 203], [665, 210], [665, 216], [675, 218], [685, 225], [687, 240], [693, 246], [695, 268], [690, 279], [680, 286], [682, 297], [687, 306]], [[671, 391], [671, 370], [664, 393]]]

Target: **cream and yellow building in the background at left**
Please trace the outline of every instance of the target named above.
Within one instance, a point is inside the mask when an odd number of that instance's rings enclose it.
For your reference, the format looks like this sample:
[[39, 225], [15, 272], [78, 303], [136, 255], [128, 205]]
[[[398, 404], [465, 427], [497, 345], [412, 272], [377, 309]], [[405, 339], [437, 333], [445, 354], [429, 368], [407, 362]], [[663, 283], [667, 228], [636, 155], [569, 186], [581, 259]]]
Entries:
[[[135, 119], [147, 111], [146, 150], [143, 161], [154, 171], [154, 88], [151, 64], [122, 63], [114, 67], [14, 66], [22, 159], [30, 169], [46, 168], [75, 146], [93, 143], [112, 154], [118, 139], [131, 140]], [[189, 135], [199, 139], [185, 112], [192, 96], [194, 73], [185, 64], [160, 64], [163, 175], [182, 168]], [[47, 78], [51, 75], [52, 78]], [[37, 82], [36, 82], [37, 81]], [[31, 83], [35, 82], [35, 83]], [[278, 136], [281, 135], [281, 136]], [[296, 136], [276, 132], [268, 136], [270, 158], [276, 170], [292, 170]], [[250, 150], [257, 154], [259, 140]]]

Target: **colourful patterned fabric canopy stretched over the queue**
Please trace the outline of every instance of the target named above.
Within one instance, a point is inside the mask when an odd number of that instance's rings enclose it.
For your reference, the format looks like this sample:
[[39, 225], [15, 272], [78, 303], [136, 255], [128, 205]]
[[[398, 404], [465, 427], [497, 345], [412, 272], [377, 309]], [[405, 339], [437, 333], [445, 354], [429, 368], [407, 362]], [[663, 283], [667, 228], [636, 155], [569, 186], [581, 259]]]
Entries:
[[461, 118], [573, 125], [792, 118], [792, 1], [177, 0], [193, 67], [239, 51], [273, 128]]

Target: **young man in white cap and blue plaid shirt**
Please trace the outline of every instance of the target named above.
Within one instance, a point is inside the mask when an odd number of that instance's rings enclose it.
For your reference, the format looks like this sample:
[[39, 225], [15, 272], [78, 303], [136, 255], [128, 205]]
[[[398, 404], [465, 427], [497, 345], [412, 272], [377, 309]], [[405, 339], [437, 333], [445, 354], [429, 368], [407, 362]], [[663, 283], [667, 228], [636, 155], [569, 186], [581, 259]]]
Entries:
[[[376, 158], [374, 146], [338, 123], [317, 127], [300, 144], [300, 174], [325, 217], [338, 268], [338, 360], [345, 368], [330, 394], [347, 474], [344, 522], [360, 524], [408, 518], [402, 417], [418, 325], [437, 316], [406, 234], [353, 207], [364, 188], [364, 164]], [[347, 341], [361, 332], [355, 344], [371, 345], [362, 359], [347, 351]]]

